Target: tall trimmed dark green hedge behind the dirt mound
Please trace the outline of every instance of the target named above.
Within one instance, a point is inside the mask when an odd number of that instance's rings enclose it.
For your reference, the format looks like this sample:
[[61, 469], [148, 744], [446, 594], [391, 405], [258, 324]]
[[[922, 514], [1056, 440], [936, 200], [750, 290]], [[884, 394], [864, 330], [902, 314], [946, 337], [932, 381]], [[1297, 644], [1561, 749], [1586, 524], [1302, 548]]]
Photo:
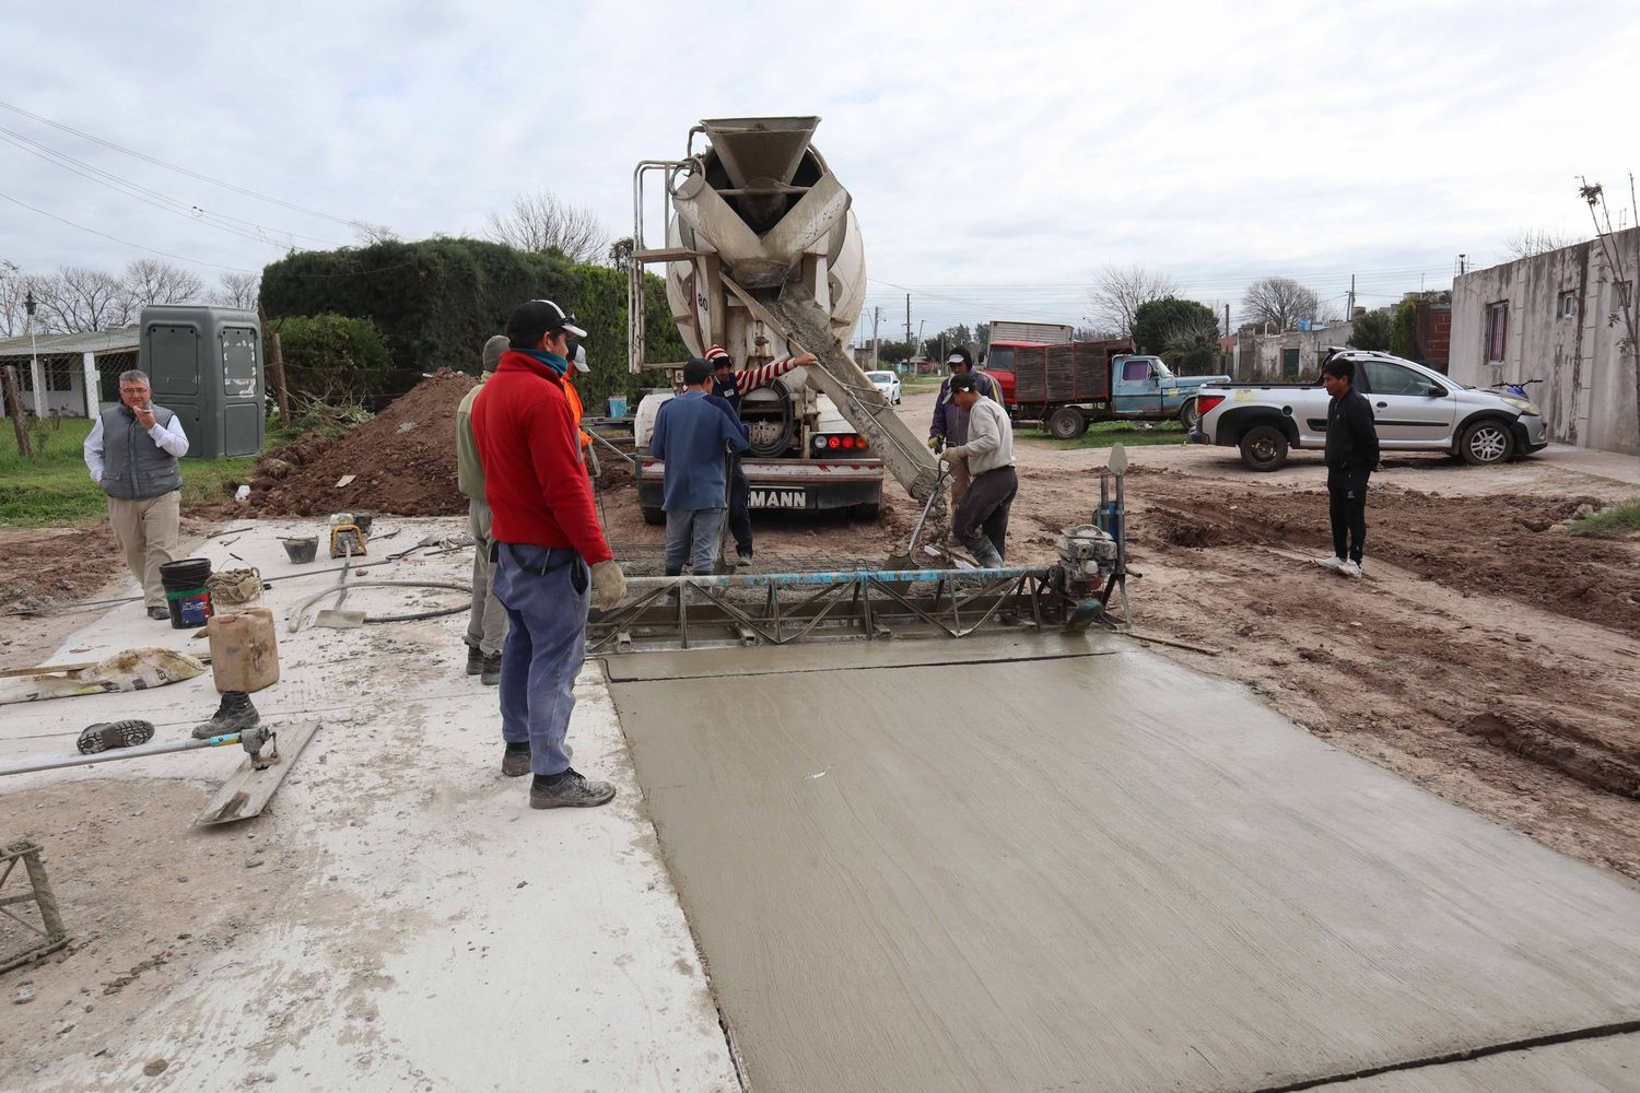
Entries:
[[[372, 320], [392, 356], [385, 390], [394, 395], [415, 387], [423, 372], [476, 374], [485, 339], [503, 333], [512, 310], [531, 298], [558, 302], [585, 328], [590, 374], [576, 380], [576, 390], [589, 413], [597, 415], [612, 393], [666, 385], [626, 370], [626, 274], [605, 265], [481, 239], [423, 239], [305, 251], [262, 272], [271, 316], [331, 311]], [[659, 277], [646, 277], [645, 313], [649, 357], [686, 359]]]

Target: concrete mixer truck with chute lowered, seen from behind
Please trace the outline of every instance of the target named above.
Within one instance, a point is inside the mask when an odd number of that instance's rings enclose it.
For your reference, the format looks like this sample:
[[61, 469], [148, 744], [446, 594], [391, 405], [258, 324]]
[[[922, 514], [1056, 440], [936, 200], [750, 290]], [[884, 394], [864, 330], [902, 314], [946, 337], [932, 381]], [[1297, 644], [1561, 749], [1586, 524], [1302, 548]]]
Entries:
[[[682, 159], [638, 164], [628, 354], [633, 372], [667, 370], [676, 385], [684, 362], [649, 361], [645, 346], [643, 275], [656, 264], [666, 265], [666, 300], [692, 356], [717, 344], [736, 367], [768, 374], [815, 354], [818, 364], [743, 388], [751, 506], [876, 516], [884, 470], [922, 501], [938, 464], [845, 347], [864, 302], [866, 257], [850, 193], [812, 143], [818, 125], [705, 120], [689, 129]], [[664, 224], [664, 243], [651, 244], [646, 221]], [[664, 467], [646, 452], [671, 397], [649, 392], [635, 418], [638, 503], [651, 523], [664, 519]]]

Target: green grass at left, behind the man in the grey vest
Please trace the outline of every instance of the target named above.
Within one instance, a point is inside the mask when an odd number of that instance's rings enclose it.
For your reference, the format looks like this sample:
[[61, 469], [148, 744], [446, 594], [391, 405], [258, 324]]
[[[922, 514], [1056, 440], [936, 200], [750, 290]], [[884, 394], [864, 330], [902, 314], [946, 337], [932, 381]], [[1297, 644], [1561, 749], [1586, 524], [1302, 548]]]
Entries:
[[[85, 470], [82, 446], [92, 423], [56, 418], [33, 431], [34, 457], [23, 459], [10, 436], [0, 436], [0, 524], [46, 528], [102, 519], [107, 495]], [[249, 478], [254, 456], [184, 459], [182, 510], [228, 500], [228, 487]]]

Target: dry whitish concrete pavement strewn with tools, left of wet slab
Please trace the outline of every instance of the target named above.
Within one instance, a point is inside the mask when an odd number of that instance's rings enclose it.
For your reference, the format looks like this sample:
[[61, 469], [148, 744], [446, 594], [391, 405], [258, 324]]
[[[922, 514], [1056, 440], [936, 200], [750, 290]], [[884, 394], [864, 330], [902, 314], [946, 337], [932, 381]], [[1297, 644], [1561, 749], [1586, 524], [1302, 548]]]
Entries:
[[[376, 526], [400, 528], [372, 539], [380, 556], [466, 521]], [[231, 552], [264, 577], [321, 569], [285, 560], [279, 534], [294, 531], [257, 524], [203, 554], [220, 569], [238, 564]], [[372, 575], [466, 580], [469, 565], [458, 551]], [[499, 772], [497, 690], [462, 673], [466, 618], [290, 634], [289, 608], [333, 580], [267, 593], [280, 682], [256, 706], [269, 723], [323, 728], [262, 816], [189, 826], [241, 762], [238, 749], [0, 778], [0, 837], [57, 831], [48, 865], [75, 939], [64, 962], [25, 973], [38, 995], [28, 1006], [5, 996], [0, 1088], [228, 1090], [277, 1078], [267, 1088], [738, 1090], [597, 667], [577, 682], [569, 739], [577, 767], [620, 795], [607, 808], [533, 811], [528, 778]], [[403, 613], [461, 600], [367, 588], [348, 606]], [[203, 646], [139, 605], [90, 618], [51, 660]], [[121, 716], [153, 719], [156, 739], [182, 737], [215, 706], [210, 675], [5, 706], [0, 762], [72, 754], [80, 728]], [[97, 816], [48, 814], [41, 795], [64, 785], [116, 787], [131, 826], [153, 834], [133, 846], [123, 816], [92, 828]], [[153, 813], [177, 795], [174, 828], [154, 831]], [[89, 862], [110, 857], [149, 865], [130, 870], [128, 891], [87, 891]], [[128, 944], [110, 952], [112, 937]]]

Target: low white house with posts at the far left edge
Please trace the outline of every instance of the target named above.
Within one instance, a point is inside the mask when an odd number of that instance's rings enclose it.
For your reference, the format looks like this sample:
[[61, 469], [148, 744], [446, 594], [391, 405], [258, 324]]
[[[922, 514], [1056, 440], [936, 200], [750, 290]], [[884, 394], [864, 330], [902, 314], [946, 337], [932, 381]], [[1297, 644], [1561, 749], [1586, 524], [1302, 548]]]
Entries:
[[[136, 367], [138, 328], [36, 334], [0, 341], [0, 367], [15, 367], [23, 410], [34, 416], [93, 418], [118, 401], [120, 372]], [[0, 387], [0, 413], [8, 413]]]

